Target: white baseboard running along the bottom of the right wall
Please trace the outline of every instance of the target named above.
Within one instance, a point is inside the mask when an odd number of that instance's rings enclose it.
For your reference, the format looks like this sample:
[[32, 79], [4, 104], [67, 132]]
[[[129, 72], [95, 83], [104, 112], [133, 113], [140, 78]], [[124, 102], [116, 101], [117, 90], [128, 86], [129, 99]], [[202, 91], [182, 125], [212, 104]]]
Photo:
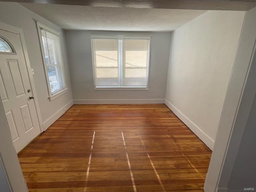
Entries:
[[194, 124], [189, 118], [187, 118], [180, 110], [178, 110], [173, 104], [171, 104], [169, 101], [165, 100], [165, 104], [174, 114], [196, 134], [204, 142], [210, 150], [213, 150], [214, 146], [214, 140], [210, 138], [205, 132], [203, 132], [196, 124]]

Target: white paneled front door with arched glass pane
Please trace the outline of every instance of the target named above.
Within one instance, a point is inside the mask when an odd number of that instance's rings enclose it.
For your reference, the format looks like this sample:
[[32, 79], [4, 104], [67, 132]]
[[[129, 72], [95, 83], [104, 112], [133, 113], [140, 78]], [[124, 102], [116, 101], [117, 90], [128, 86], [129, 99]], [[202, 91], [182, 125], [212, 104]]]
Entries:
[[20, 35], [1, 29], [0, 96], [15, 150], [19, 152], [40, 134], [40, 126]]

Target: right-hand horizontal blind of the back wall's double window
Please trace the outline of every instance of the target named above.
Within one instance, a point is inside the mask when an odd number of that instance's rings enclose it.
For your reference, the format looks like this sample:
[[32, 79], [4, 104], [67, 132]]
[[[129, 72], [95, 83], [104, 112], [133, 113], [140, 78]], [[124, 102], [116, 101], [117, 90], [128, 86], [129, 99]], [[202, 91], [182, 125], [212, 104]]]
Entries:
[[147, 39], [123, 39], [123, 86], [146, 86], [148, 80]]

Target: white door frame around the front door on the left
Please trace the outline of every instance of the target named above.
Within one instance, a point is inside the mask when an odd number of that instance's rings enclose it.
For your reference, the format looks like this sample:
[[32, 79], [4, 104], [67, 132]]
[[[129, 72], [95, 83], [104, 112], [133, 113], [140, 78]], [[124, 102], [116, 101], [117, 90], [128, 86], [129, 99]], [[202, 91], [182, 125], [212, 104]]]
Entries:
[[26, 43], [25, 43], [23, 30], [21, 28], [14, 27], [12, 25], [8, 25], [8, 24], [3, 23], [3, 22], [0, 22], [0, 29], [4, 30], [4, 31], [8, 31], [8, 32], [18, 34], [20, 36], [22, 50], [24, 52], [24, 58], [25, 58], [26, 67], [27, 67], [27, 71], [28, 71], [28, 78], [29, 78], [29, 81], [30, 81], [30, 84], [31, 84], [33, 95], [35, 97], [34, 98], [34, 103], [35, 103], [35, 107], [36, 107], [36, 115], [37, 115], [37, 119], [38, 119], [38, 122], [39, 122], [40, 130], [41, 130], [41, 133], [42, 133], [42, 132], [44, 132], [42, 116], [41, 116], [41, 112], [40, 112], [40, 108], [39, 108], [39, 104], [38, 104], [38, 97], [36, 95], [36, 87], [35, 87], [35, 84], [34, 84], [34, 78], [33, 78], [32, 72], [30, 70], [31, 66], [30, 66], [30, 62], [29, 62], [29, 58], [28, 58], [28, 51], [27, 51], [27, 48], [26, 48]]

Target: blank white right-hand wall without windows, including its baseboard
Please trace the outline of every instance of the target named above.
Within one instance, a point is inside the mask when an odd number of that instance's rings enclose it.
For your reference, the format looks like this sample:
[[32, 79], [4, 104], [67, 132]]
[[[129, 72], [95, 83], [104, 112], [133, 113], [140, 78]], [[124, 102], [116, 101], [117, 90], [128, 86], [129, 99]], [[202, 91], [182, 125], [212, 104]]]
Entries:
[[175, 30], [166, 105], [213, 148], [244, 12], [208, 11]]

